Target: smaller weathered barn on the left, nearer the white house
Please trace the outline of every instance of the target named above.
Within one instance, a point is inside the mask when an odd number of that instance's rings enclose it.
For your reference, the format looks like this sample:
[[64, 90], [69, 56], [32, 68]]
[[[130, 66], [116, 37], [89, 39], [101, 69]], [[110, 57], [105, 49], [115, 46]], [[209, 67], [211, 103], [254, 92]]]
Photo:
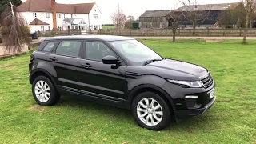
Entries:
[[139, 17], [140, 29], [165, 29], [168, 27], [166, 15], [170, 10], [147, 10]]

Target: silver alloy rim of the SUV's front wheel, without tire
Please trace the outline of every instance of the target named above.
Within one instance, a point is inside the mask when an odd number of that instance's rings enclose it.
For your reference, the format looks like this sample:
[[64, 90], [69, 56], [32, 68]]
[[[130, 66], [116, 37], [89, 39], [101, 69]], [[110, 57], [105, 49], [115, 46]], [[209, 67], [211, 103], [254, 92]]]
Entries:
[[162, 106], [153, 98], [143, 98], [138, 102], [137, 114], [146, 126], [157, 126], [162, 121]]

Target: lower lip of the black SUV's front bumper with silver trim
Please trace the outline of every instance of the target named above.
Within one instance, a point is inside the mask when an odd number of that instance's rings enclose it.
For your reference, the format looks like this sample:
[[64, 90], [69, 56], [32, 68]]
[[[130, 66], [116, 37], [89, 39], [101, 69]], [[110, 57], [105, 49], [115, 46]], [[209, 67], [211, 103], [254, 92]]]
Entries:
[[197, 116], [200, 114], [205, 113], [207, 110], [210, 110], [210, 107], [214, 105], [214, 102], [216, 100], [216, 96], [212, 98], [210, 103], [208, 103], [206, 106], [200, 109], [195, 110], [174, 110], [175, 118], [176, 119], [182, 119], [182, 118], [190, 118], [193, 116]]

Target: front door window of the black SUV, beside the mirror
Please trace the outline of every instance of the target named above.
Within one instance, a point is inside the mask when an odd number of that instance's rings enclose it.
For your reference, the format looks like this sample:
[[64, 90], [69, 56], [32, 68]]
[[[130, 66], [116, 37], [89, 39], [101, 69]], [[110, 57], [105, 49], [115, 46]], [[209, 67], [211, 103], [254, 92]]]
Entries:
[[102, 62], [102, 58], [107, 55], [116, 57], [114, 52], [110, 50], [102, 42], [86, 42], [86, 54], [83, 55], [86, 59]]

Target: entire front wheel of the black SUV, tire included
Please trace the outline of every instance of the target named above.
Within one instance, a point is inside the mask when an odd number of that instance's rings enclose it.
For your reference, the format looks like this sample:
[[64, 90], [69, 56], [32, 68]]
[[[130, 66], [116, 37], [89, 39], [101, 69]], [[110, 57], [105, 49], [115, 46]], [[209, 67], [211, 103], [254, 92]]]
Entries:
[[[152, 102], [154, 103], [153, 106], [151, 105]], [[162, 130], [170, 124], [170, 108], [158, 94], [152, 92], [138, 94], [134, 98], [131, 109], [135, 122], [143, 128]]]

